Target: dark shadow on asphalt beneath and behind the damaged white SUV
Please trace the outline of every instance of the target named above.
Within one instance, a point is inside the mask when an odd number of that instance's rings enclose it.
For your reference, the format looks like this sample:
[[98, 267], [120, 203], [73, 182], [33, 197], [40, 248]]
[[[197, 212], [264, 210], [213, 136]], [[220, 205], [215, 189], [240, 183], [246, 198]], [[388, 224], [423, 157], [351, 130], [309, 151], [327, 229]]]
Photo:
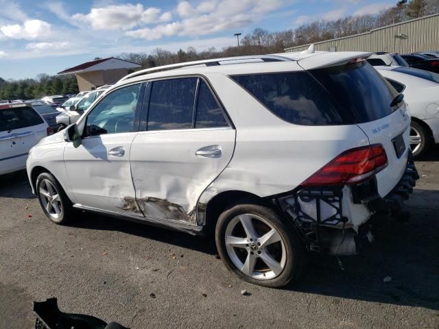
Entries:
[[[439, 191], [416, 190], [407, 210], [411, 219], [383, 221], [375, 228], [376, 241], [358, 256], [337, 258], [310, 255], [309, 266], [298, 285], [285, 289], [383, 304], [420, 306], [439, 310]], [[191, 236], [138, 223], [82, 213], [71, 226], [116, 230], [216, 254], [213, 237]], [[230, 274], [231, 275], [231, 274]], [[383, 278], [390, 276], [390, 282]], [[340, 302], [334, 300], [334, 302]]]

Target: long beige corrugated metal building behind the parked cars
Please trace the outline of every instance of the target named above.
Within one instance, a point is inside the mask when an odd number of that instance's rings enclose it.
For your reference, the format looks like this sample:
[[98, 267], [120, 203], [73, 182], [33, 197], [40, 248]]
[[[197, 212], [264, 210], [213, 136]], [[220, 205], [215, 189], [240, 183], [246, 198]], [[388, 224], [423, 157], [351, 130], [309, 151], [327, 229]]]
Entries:
[[[308, 47], [309, 44], [286, 48], [285, 51], [302, 51]], [[314, 47], [321, 51], [439, 51], [439, 14], [379, 27], [354, 36], [316, 42]]]

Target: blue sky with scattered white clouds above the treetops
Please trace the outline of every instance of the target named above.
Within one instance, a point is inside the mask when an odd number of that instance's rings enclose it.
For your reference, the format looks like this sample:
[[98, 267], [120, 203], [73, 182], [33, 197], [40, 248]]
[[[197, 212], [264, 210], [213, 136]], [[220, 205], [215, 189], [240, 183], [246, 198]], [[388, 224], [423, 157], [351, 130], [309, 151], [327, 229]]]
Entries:
[[123, 52], [202, 51], [235, 33], [375, 14], [396, 0], [0, 0], [0, 77], [21, 79]]

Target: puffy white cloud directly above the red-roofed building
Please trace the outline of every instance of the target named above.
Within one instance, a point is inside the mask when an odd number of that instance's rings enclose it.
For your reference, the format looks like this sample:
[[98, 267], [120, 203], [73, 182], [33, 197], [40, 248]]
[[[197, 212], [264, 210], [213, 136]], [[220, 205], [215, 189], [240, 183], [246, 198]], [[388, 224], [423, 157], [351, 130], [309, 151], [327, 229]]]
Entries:
[[141, 3], [91, 8], [88, 14], [78, 13], [72, 16], [73, 21], [86, 23], [93, 29], [101, 30], [126, 30], [141, 23], [161, 23], [169, 19], [171, 13], [161, 14], [161, 10], [154, 7], [145, 9]]

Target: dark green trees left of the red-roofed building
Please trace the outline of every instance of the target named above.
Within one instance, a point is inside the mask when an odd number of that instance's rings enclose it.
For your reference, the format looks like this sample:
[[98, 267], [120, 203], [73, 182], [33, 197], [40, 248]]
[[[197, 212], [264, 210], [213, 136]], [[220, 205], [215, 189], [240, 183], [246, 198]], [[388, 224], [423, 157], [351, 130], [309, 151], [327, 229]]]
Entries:
[[4, 80], [0, 77], [0, 99], [36, 99], [47, 95], [76, 94], [74, 75], [39, 74], [36, 79]]

